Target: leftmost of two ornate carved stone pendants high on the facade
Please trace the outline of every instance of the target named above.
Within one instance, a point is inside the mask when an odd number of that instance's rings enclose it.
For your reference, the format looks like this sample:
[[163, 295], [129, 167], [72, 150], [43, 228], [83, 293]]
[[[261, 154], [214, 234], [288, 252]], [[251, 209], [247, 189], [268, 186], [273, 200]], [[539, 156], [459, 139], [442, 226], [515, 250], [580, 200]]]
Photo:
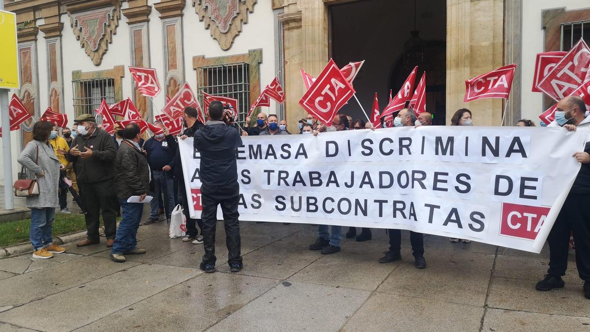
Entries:
[[95, 66], [99, 66], [119, 25], [121, 4], [70, 15], [71, 27]]

